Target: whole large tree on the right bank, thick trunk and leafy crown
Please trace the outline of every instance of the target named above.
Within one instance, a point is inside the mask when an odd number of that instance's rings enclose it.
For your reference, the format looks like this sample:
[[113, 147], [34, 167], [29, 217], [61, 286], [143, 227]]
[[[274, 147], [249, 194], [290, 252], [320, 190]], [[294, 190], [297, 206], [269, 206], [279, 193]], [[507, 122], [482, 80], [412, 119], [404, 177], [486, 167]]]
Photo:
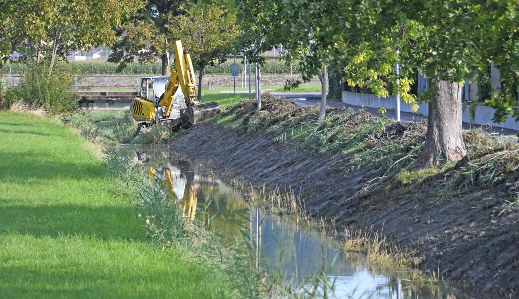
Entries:
[[[517, 58], [517, 46], [512, 45], [517, 34], [513, 25], [516, 2], [350, 0], [336, 7], [327, 11], [330, 16], [326, 18], [335, 20], [332, 26], [341, 27], [332, 30], [340, 34], [330, 38], [344, 49], [350, 86], [366, 85], [380, 96], [400, 91], [404, 102], [417, 108], [409, 94], [416, 69], [430, 82], [432, 88], [421, 95], [429, 102], [426, 144], [415, 167], [430, 166], [439, 157], [463, 158], [458, 82], [473, 79], [490, 60], [502, 66]], [[509, 28], [504, 29], [505, 25]], [[397, 59], [400, 86], [393, 72]], [[512, 65], [516, 67], [517, 62]]]

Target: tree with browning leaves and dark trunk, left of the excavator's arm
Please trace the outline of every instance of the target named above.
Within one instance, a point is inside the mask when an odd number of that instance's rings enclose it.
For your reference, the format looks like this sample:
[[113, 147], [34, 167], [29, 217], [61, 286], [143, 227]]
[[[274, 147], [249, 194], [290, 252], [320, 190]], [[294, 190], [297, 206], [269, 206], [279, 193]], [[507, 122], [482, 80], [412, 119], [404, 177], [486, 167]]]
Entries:
[[[190, 0], [150, 0], [130, 20], [118, 26], [119, 40], [112, 47], [108, 62], [125, 67], [134, 58], [139, 62], [162, 62], [162, 75], [168, 74], [168, 38], [178, 39], [171, 31], [174, 19], [187, 13]], [[179, 32], [180, 29], [175, 30]], [[171, 46], [169, 46], [171, 48]]]

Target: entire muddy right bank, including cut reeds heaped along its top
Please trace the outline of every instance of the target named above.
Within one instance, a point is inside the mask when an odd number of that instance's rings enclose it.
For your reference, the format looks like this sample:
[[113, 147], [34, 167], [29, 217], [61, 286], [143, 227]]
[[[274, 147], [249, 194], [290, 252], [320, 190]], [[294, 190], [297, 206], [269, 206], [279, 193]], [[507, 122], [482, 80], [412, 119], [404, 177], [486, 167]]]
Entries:
[[425, 123], [330, 111], [337, 123], [323, 132], [335, 128], [335, 135], [299, 142], [297, 132], [312, 126], [314, 108], [272, 100], [257, 113], [253, 106], [243, 102], [225, 111], [227, 124], [210, 121], [184, 131], [171, 149], [257, 186], [292, 188], [312, 215], [379, 232], [420, 258], [422, 269], [460, 281], [476, 296], [519, 292], [519, 211], [507, 203], [517, 199], [519, 173], [510, 145], [466, 133], [470, 163], [405, 180], [400, 175], [409, 161], [393, 170], [419, 150]]

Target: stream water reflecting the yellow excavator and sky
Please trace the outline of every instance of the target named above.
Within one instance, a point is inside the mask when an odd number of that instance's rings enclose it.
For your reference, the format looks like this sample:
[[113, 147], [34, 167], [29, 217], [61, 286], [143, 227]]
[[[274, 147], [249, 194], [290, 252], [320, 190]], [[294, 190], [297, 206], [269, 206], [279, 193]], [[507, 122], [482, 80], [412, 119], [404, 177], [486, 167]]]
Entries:
[[334, 283], [332, 297], [349, 298], [470, 298], [447, 283], [420, 286], [416, 272], [387, 272], [370, 267], [363, 254], [340, 250], [337, 241], [269, 215], [249, 204], [246, 195], [227, 186], [210, 170], [194, 169], [167, 151], [123, 147], [121, 155], [153, 167], [177, 198], [183, 216], [214, 216], [212, 229], [224, 238], [249, 234], [256, 263], [279, 270], [286, 279], [303, 281], [324, 271]]

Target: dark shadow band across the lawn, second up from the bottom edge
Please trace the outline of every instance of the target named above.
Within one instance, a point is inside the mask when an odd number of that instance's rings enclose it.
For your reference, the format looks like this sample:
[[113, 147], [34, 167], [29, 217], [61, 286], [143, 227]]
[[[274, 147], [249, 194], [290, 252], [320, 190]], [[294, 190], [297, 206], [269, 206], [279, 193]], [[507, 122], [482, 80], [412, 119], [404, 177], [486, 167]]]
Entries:
[[141, 224], [134, 215], [132, 207], [7, 205], [0, 207], [0, 234], [143, 240], [143, 229], [139, 229]]

